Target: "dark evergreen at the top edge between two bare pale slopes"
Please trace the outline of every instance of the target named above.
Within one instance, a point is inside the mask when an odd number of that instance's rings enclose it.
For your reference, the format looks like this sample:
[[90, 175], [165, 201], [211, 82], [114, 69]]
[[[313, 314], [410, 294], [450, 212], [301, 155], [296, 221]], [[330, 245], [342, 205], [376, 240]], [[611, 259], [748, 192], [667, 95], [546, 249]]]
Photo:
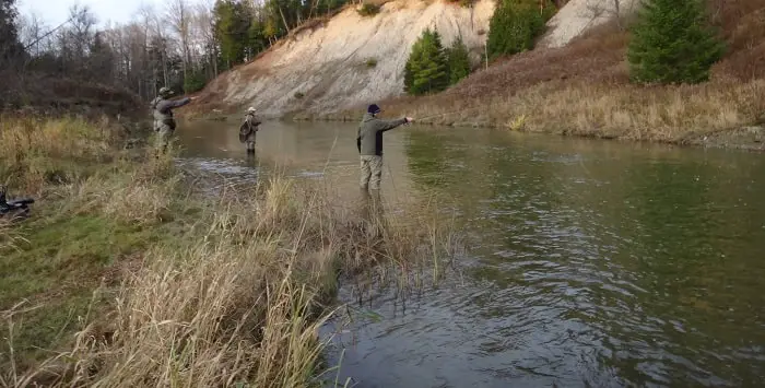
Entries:
[[489, 24], [489, 56], [497, 58], [533, 48], [534, 39], [544, 31], [544, 23], [555, 13], [555, 7], [544, 0], [503, 0], [497, 4]]

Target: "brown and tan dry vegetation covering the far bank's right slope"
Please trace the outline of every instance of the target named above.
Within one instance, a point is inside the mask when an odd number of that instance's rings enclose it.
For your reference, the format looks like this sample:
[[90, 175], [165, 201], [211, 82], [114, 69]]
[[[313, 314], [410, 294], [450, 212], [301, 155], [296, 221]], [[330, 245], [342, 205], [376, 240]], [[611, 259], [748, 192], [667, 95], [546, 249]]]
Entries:
[[[611, 24], [560, 49], [498, 60], [444, 93], [384, 106], [424, 124], [632, 140], [697, 142], [735, 131], [765, 113], [765, 0], [715, 0], [710, 9], [728, 51], [705, 84], [631, 84], [629, 34]], [[358, 117], [344, 111], [328, 118]]]

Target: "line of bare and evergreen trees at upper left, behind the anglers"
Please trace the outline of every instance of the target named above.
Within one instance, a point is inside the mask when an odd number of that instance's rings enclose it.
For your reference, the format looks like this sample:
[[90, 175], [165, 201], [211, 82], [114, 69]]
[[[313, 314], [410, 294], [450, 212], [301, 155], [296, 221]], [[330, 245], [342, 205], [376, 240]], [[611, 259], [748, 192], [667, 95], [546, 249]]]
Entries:
[[94, 81], [151, 99], [162, 86], [196, 92], [251, 60], [304, 22], [346, 0], [168, 0], [142, 5], [127, 23], [98, 25], [73, 5], [61, 25], [20, 15], [0, 0], [0, 60], [16, 72]]

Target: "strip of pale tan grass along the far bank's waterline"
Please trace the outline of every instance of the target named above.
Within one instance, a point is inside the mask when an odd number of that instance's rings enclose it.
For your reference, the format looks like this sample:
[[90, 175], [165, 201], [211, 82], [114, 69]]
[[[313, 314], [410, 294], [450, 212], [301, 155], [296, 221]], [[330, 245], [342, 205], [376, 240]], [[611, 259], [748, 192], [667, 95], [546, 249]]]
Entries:
[[[444, 94], [382, 102], [419, 125], [498, 128], [597, 139], [765, 150], [765, 80], [640, 87], [548, 82], [509, 96]], [[363, 108], [296, 120], [360, 121]]]

